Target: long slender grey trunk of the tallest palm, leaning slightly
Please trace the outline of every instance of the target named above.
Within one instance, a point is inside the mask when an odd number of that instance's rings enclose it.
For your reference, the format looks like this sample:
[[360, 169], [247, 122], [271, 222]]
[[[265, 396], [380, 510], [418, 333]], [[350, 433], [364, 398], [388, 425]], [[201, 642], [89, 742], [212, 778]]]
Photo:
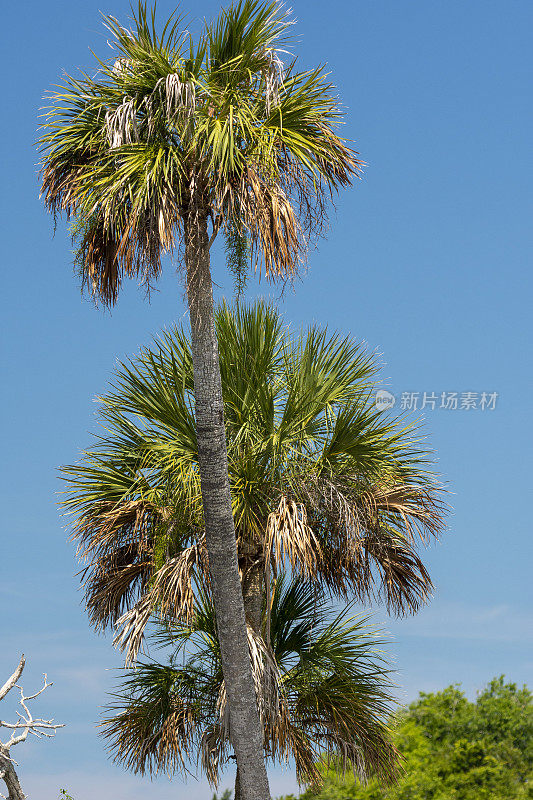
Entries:
[[231, 509], [207, 215], [199, 209], [192, 209], [185, 220], [185, 266], [205, 535], [229, 700], [230, 737], [242, 800], [269, 800]]

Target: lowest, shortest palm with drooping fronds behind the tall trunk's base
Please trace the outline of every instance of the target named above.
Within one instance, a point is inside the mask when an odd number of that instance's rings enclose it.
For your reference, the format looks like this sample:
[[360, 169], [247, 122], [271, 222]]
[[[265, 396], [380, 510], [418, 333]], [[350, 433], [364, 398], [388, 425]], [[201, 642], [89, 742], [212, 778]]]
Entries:
[[[376, 633], [365, 619], [347, 610], [339, 614], [323, 592], [288, 581], [283, 573], [268, 615], [266, 608], [263, 602], [268, 656], [251, 630], [250, 648], [267, 756], [294, 759], [299, 782], [319, 780], [317, 764], [324, 758], [353, 768], [360, 779], [394, 778], [397, 753], [385, 723], [392, 684]], [[196, 761], [216, 786], [231, 753], [220, 646], [206, 588], [199, 588], [189, 623], [170, 620], [150, 638], [167, 658], [137, 664], [115, 695], [103, 722], [114, 758], [143, 774], [185, 774]]]

